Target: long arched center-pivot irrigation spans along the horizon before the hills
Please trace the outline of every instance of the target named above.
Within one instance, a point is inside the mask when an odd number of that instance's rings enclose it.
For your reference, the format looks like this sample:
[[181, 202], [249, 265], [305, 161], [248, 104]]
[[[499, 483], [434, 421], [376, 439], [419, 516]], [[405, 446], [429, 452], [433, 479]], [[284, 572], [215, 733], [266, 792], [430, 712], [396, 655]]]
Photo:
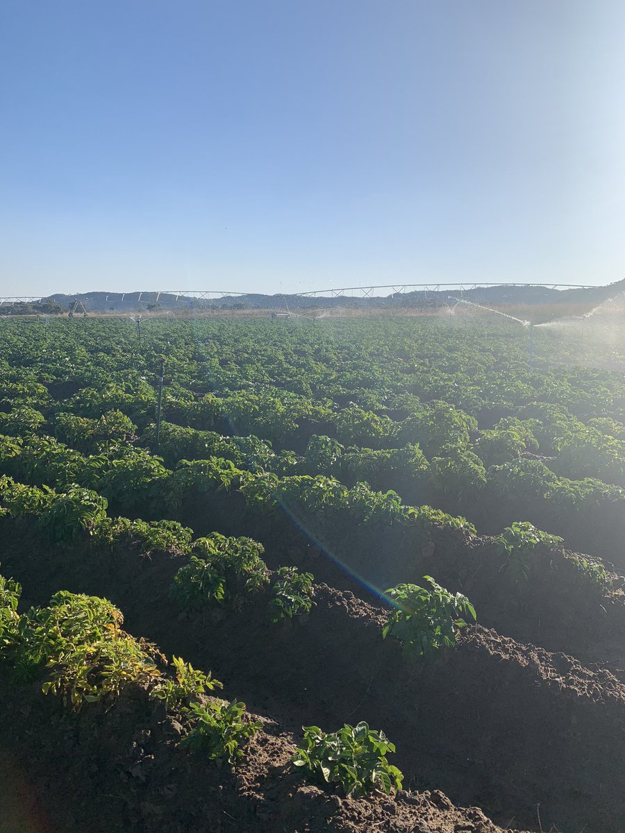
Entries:
[[[404, 295], [408, 292], [468, 292], [473, 289], [483, 289], [486, 287], [542, 287], [544, 289], [592, 289], [588, 284], [581, 283], [509, 283], [509, 282], [473, 282], [473, 283], [389, 283], [378, 284], [373, 287], [330, 287], [329, 289], [313, 289], [308, 292], [278, 292], [275, 297], [306, 297], [306, 298], [373, 298], [373, 297], [394, 297], [396, 295]], [[386, 292], [384, 292], [386, 290]], [[257, 293], [253, 292], [233, 292], [231, 290], [161, 290], [155, 292], [122, 292], [109, 293], [111, 296], [121, 295], [121, 302], [128, 297], [132, 297], [133, 301], [141, 302], [142, 300], [153, 300], [158, 303], [162, 295], [173, 297], [176, 301], [218, 301], [222, 298], [229, 297], [244, 297]], [[258, 293], [264, 294], [264, 293]], [[145, 296], [145, 298], [143, 298]], [[108, 299], [108, 296], [106, 300]], [[0, 307], [12, 307], [13, 304], [23, 303], [41, 303], [47, 299], [43, 296], [22, 296], [22, 297], [0, 297]], [[88, 297], [85, 299], [88, 302]]]

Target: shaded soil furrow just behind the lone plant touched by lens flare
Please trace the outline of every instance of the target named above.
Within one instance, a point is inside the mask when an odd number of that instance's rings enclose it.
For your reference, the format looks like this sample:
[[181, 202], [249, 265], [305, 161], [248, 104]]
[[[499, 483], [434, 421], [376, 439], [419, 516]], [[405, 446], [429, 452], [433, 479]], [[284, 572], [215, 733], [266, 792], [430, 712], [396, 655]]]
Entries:
[[[273, 569], [295, 564], [367, 601], [375, 601], [369, 588], [419, 583], [432, 575], [448, 589], [466, 593], [484, 625], [517, 641], [563, 651], [586, 664], [612, 663], [616, 651], [617, 665], [625, 664], [619, 647], [625, 645], [625, 593], [607, 593], [583, 579], [564, 553], [538, 549], [529, 557], [527, 581], [512, 581], [501, 571], [503, 559], [490, 536], [471, 540], [462, 531], [426, 532], [401, 524], [346, 529], [311, 515], [301, 516], [298, 528], [285, 514], [247, 511], [237, 493], [198, 496], [185, 501], [183, 510], [178, 520], [198, 535], [216, 529], [261, 541]], [[612, 577], [622, 584], [622, 576]]]

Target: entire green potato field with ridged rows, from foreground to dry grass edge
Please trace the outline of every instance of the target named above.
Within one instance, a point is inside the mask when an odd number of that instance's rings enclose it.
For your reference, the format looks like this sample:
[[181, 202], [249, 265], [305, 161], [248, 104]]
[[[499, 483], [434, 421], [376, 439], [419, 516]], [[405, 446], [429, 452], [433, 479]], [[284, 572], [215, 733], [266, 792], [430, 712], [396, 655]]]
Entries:
[[621, 320], [2, 320], [0, 831], [624, 833]]

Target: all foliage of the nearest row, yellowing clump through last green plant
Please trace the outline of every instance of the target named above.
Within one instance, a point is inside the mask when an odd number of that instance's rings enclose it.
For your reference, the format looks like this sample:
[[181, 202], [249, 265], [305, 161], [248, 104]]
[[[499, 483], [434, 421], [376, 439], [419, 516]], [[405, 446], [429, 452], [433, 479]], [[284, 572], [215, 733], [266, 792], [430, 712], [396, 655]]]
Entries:
[[[98, 702], [110, 709], [140, 687], [183, 721], [181, 748], [230, 765], [263, 728], [244, 703], [212, 696], [223, 686], [210, 673], [177, 656], [170, 666], [157, 646], [123, 631], [121, 611], [106, 599], [59, 591], [48, 606], [20, 614], [20, 596], [18, 582], [0, 576], [0, 671], [16, 688], [37, 682], [43, 694], [60, 696], [77, 711]], [[303, 731], [293, 764], [307, 780], [337, 783], [353, 797], [402, 786], [402, 773], [386, 757], [395, 747], [383, 732], [365, 723], [335, 734]]]

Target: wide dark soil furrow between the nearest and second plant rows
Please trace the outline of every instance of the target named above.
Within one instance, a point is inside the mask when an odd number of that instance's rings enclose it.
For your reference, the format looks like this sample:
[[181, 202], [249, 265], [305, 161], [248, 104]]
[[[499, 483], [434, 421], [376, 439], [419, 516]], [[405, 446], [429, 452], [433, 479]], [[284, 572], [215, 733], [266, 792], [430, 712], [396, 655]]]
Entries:
[[317, 586], [307, 621], [285, 626], [268, 623], [265, 602], [189, 616], [168, 596], [179, 564], [90, 549], [45, 557], [31, 542], [7, 566], [28, 601], [61, 586], [111, 598], [130, 631], [211, 669], [228, 697], [289, 731], [359, 719], [383, 728], [407, 786], [442, 789], [504, 826], [515, 817], [536, 828], [540, 805], [545, 830], [622, 830], [625, 689], [609, 671], [483, 627], [455, 651], [407, 664], [381, 638], [383, 611], [328, 586]]

